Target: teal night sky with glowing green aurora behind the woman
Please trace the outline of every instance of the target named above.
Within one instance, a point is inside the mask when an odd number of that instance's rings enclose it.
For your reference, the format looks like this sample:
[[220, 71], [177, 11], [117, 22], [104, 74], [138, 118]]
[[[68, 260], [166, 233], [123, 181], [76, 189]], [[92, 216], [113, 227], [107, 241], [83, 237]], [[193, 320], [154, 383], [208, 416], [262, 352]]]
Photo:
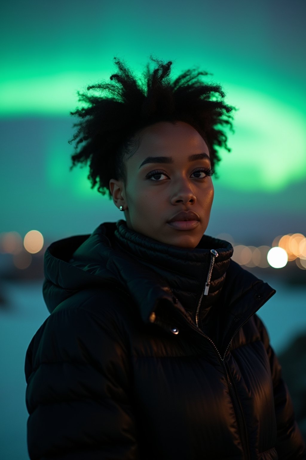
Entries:
[[[20, 193], [35, 200], [46, 226], [49, 214], [67, 207], [54, 200], [61, 192], [70, 203], [81, 200], [92, 213], [98, 206], [108, 215], [111, 203], [90, 190], [87, 170], [69, 172], [67, 140], [75, 121], [69, 111], [79, 106], [77, 90], [116, 71], [114, 56], [139, 75], [150, 54], [173, 61], [173, 78], [195, 66], [211, 72], [209, 81], [221, 83], [227, 102], [239, 109], [229, 135], [232, 152], [222, 153], [218, 168], [216, 207], [242, 193], [239, 209], [250, 203], [262, 209], [264, 200], [271, 212], [288, 207], [300, 216], [306, 192], [305, 13], [301, 0], [6, 3], [0, 14], [5, 230], [14, 230], [12, 216], [24, 213]], [[291, 207], [280, 198], [288, 193]], [[232, 207], [235, 212], [237, 203]], [[28, 225], [33, 211], [28, 208]]]

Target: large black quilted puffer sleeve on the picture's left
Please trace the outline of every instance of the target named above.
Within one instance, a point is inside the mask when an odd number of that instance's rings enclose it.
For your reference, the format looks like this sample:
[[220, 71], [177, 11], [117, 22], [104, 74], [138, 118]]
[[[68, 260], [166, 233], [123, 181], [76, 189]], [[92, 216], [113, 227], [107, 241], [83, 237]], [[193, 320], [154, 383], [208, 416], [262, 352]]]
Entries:
[[39, 328], [25, 362], [31, 460], [139, 458], [124, 342], [114, 319], [85, 305]]

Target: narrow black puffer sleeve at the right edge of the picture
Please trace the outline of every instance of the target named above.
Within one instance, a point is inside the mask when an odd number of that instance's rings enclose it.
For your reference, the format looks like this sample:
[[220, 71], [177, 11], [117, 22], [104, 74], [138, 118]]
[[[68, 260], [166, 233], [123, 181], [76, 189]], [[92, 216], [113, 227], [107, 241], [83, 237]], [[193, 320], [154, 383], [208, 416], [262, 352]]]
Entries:
[[276, 450], [279, 460], [305, 460], [306, 448], [300, 429], [295, 420], [294, 409], [288, 387], [282, 377], [282, 368], [278, 357], [270, 345], [267, 329], [259, 316], [255, 315], [257, 327], [261, 334], [261, 340], [265, 345], [270, 361], [275, 415], [277, 421]]

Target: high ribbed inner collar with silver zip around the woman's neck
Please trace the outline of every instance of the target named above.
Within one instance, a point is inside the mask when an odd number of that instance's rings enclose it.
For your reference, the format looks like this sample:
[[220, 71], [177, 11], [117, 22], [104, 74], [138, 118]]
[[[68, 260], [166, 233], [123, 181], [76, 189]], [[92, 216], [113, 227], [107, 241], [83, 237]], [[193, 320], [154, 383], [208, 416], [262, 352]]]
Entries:
[[[233, 255], [232, 245], [203, 235], [197, 247], [181, 248], [131, 230], [125, 220], [119, 220], [116, 226], [114, 235], [121, 251], [158, 273], [194, 318], [199, 307], [202, 327], [221, 293], [230, 257]], [[214, 260], [208, 295], [203, 295], [212, 266], [211, 249], [217, 251], [218, 255]]]

